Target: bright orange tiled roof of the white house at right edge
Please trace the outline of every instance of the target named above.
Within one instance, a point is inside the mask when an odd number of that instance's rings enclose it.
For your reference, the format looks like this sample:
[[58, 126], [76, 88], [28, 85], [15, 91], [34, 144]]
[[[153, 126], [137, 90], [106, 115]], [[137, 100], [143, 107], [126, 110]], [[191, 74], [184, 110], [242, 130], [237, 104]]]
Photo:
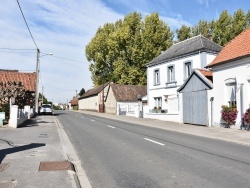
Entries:
[[206, 67], [226, 63], [250, 55], [250, 27], [229, 42]]

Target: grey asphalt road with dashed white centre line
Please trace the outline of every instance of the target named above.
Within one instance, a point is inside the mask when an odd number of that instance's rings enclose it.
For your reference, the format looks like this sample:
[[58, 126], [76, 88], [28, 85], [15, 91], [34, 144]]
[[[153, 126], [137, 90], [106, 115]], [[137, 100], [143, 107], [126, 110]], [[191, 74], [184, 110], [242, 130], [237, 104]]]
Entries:
[[77, 112], [55, 115], [94, 188], [250, 187], [248, 146]]

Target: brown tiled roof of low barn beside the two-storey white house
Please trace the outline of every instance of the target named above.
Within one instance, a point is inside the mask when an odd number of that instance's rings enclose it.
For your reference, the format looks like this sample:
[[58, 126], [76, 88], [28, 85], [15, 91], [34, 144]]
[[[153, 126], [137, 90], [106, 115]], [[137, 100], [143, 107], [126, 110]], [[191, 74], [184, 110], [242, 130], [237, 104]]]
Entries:
[[146, 86], [110, 84], [116, 101], [137, 101], [137, 95], [147, 95]]

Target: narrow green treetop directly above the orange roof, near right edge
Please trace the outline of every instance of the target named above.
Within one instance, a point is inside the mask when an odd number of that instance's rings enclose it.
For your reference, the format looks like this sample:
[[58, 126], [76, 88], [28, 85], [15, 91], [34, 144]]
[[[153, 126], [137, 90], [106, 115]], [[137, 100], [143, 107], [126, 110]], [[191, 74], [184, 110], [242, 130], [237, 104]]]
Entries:
[[246, 16], [243, 10], [239, 9], [233, 15], [231, 39], [239, 35], [245, 28], [246, 28]]

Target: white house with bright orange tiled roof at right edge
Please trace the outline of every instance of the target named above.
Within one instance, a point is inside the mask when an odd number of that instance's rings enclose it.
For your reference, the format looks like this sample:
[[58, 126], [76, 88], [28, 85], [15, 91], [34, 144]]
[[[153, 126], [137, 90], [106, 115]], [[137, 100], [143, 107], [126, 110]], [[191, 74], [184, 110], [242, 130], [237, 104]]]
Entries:
[[240, 127], [250, 103], [250, 28], [229, 42], [207, 68], [213, 71], [214, 126], [222, 123], [221, 106], [236, 104]]

